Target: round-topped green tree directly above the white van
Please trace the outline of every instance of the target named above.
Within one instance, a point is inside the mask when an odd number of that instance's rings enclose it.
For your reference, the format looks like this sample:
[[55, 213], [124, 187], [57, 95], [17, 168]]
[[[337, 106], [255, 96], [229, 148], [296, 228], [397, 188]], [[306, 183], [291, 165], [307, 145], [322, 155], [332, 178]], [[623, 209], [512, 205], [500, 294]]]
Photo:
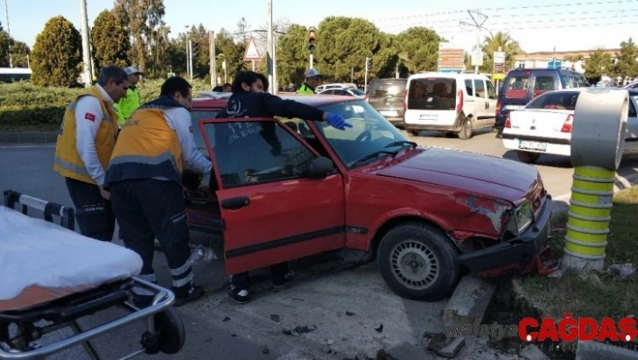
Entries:
[[396, 35], [396, 51], [409, 73], [436, 71], [441, 37], [432, 29], [411, 27]]

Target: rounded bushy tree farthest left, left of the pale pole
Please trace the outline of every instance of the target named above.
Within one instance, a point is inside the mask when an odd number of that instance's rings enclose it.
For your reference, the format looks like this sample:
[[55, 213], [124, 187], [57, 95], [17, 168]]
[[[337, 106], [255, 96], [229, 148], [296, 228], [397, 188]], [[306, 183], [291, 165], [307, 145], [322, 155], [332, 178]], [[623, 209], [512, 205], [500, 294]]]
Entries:
[[51, 18], [35, 38], [32, 82], [38, 86], [70, 87], [77, 83], [82, 62], [80, 33], [62, 16]]

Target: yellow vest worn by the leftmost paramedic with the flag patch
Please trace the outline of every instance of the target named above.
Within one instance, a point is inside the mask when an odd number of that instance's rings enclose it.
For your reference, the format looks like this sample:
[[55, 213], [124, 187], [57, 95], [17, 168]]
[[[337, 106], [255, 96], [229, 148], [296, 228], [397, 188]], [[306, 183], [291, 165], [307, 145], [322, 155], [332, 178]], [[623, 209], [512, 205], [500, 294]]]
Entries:
[[[88, 174], [87, 167], [79, 156], [76, 148], [77, 125], [76, 106], [80, 97], [97, 97], [102, 106], [102, 122], [96, 134], [96, 152], [102, 167], [106, 169], [111, 153], [115, 147], [115, 136], [117, 136], [117, 112], [114, 107], [106, 102], [100, 89], [93, 87], [88, 89], [86, 94], [76, 97], [64, 112], [62, 125], [59, 128], [58, 142], [55, 148], [55, 159], [53, 170], [60, 175], [75, 180], [96, 184]], [[87, 120], [88, 121], [88, 120]]]

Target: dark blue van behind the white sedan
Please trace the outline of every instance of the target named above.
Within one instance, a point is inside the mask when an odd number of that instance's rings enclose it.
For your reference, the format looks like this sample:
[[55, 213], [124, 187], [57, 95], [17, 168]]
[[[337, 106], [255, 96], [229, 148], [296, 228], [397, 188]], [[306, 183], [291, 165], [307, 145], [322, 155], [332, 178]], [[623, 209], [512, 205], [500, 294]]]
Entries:
[[498, 93], [497, 130], [503, 130], [507, 114], [520, 110], [534, 97], [562, 88], [589, 87], [587, 78], [570, 69], [513, 69]]

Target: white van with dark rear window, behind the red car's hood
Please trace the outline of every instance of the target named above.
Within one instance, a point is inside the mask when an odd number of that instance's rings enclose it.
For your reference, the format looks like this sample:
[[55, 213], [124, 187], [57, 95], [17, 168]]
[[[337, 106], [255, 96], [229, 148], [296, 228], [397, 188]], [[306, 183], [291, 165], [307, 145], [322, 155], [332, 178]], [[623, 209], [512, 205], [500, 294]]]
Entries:
[[404, 126], [409, 134], [437, 130], [467, 140], [474, 130], [494, 126], [497, 91], [485, 75], [415, 74], [407, 78], [404, 107]]

